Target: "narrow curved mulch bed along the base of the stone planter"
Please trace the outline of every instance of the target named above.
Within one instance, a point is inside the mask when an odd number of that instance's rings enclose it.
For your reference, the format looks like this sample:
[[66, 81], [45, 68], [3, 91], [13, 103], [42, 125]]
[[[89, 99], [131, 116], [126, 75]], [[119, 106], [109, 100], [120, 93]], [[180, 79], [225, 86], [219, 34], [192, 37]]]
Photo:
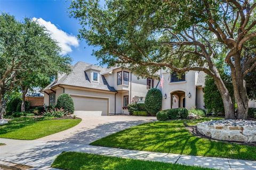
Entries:
[[228, 140], [217, 140], [217, 139], [212, 139], [209, 137], [206, 137], [204, 135], [202, 135], [201, 133], [199, 133], [197, 131], [196, 126], [189, 126], [187, 123], [183, 123], [186, 127], [186, 129], [193, 134], [194, 136], [198, 137], [198, 138], [206, 138], [209, 139], [211, 141], [222, 141], [222, 142], [227, 142], [227, 143], [236, 143], [238, 145], [246, 145], [246, 146], [252, 146], [252, 147], [256, 147], [256, 142], [235, 142], [235, 141], [228, 141]]

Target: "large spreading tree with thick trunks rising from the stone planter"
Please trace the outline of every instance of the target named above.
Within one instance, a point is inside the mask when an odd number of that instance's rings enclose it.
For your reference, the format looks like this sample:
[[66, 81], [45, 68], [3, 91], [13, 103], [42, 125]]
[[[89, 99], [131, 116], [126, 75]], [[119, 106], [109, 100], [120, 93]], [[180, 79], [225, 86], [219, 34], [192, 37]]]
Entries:
[[256, 38], [254, 1], [73, 1], [79, 38], [98, 47], [102, 64], [129, 66], [139, 75], [161, 68], [182, 73], [204, 71], [220, 91], [226, 118], [235, 118], [234, 102], [215, 64], [225, 53], [237, 103], [237, 118], [246, 119], [245, 75], [256, 66], [246, 50]]

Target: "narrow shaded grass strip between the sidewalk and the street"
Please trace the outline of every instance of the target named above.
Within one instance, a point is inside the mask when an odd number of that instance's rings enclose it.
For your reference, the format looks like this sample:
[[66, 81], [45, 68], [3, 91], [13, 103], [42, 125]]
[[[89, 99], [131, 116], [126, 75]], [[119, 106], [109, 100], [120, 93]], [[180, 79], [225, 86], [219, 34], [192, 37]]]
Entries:
[[95, 154], [86, 154], [81, 152], [62, 152], [53, 162], [52, 167], [69, 169], [69, 170], [206, 170], [210, 168], [202, 168], [195, 166], [186, 166], [171, 163], [151, 162], [144, 160], [117, 158], [110, 156], [102, 156]]

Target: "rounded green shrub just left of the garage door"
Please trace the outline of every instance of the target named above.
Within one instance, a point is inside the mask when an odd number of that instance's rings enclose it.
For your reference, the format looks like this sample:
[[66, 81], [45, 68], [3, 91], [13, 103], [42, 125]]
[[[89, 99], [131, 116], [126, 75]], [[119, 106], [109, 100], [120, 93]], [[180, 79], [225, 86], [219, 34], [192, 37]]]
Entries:
[[74, 113], [74, 102], [68, 94], [62, 94], [58, 97], [55, 108], [61, 109], [65, 112]]

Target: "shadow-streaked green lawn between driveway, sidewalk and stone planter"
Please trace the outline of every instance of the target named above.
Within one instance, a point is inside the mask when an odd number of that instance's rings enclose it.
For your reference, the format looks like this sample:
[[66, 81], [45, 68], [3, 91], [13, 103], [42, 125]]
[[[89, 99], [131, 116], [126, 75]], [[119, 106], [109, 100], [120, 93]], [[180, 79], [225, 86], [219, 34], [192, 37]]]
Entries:
[[[209, 120], [186, 121], [188, 125]], [[183, 121], [153, 122], [111, 134], [91, 145], [173, 154], [256, 160], [256, 147], [195, 137]]]

